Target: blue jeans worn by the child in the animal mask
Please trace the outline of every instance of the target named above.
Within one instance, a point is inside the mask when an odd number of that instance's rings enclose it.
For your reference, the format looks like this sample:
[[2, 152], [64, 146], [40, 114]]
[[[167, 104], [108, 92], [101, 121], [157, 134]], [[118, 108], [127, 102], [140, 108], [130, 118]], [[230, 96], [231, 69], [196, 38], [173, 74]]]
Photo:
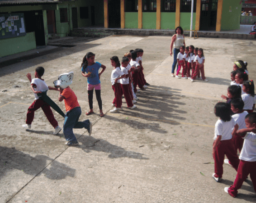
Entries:
[[89, 130], [90, 121], [89, 119], [84, 122], [78, 122], [79, 117], [81, 116], [81, 108], [76, 107], [71, 109], [65, 114], [65, 121], [63, 124], [63, 133], [67, 141], [76, 142], [76, 136], [73, 133], [73, 128], [85, 128]]

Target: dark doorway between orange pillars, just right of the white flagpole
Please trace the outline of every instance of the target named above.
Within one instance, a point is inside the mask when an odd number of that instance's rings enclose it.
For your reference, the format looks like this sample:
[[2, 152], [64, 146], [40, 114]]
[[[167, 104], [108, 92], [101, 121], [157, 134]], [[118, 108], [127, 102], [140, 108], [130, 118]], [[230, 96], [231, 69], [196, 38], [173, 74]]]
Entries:
[[201, 0], [200, 30], [216, 30], [218, 0]]

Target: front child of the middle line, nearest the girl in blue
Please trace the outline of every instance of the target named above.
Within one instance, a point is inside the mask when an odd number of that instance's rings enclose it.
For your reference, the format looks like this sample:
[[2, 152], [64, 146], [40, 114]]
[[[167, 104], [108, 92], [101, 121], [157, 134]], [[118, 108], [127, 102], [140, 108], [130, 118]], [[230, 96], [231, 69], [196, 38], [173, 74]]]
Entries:
[[114, 90], [115, 98], [112, 104], [115, 104], [115, 108], [110, 110], [110, 113], [119, 113], [122, 110], [122, 88], [120, 84], [120, 79], [125, 77], [125, 74], [121, 71], [121, 64], [119, 62], [119, 58], [117, 56], [113, 56], [110, 58], [111, 65], [114, 67], [111, 73], [111, 84], [112, 89]]

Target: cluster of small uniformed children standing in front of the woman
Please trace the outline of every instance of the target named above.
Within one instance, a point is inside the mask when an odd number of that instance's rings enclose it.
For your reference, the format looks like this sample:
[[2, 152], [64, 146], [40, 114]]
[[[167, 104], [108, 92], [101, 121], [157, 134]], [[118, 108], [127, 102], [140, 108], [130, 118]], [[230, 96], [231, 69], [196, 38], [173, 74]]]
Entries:
[[[208, 81], [204, 76], [204, 50], [202, 48], [194, 48], [193, 45], [190, 46], [180, 46], [180, 53], [177, 55], [177, 73], [176, 78], [190, 79], [191, 82], [198, 77], [203, 81]], [[181, 75], [179, 76], [182, 68]], [[191, 71], [191, 74], [190, 74]]]

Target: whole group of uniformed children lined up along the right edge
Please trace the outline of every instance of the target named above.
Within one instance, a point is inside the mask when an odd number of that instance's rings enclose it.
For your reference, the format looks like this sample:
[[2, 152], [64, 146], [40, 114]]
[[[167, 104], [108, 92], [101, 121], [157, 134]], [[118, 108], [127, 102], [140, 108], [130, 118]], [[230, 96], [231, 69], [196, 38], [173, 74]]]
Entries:
[[213, 142], [213, 179], [221, 181], [224, 162], [235, 168], [237, 177], [224, 191], [236, 197], [237, 190], [249, 174], [256, 192], [256, 113], [253, 113], [256, 95], [254, 82], [249, 81], [246, 62], [239, 60], [234, 63], [231, 80], [227, 96], [221, 95], [227, 102], [219, 102], [214, 107], [219, 119], [215, 124]]

